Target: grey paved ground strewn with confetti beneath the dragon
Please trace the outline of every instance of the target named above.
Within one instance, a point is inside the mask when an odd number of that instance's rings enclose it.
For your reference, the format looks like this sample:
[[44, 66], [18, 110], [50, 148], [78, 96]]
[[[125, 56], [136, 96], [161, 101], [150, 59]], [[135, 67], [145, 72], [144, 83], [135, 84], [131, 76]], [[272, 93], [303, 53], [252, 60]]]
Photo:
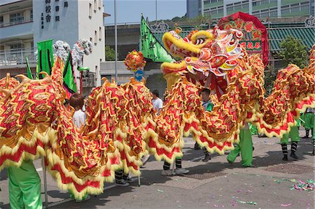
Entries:
[[[314, 192], [290, 189], [293, 180], [314, 179], [311, 140], [299, 143], [299, 160], [284, 162], [279, 139], [254, 136], [253, 168], [242, 168], [240, 159], [231, 166], [226, 156], [218, 154], [204, 163], [202, 151], [193, 150], [193, 140], [185, 140], [183, 167], [190, 170], [186, 176], [161, 176], [163, 163], [151, 157], [142, 168], [141, 187], [137, 182], [130, 187], [109, 184], [104, 194], [76, 203], [48, 175], [49, 204], [51, 208], [314, 208]], [[35, 164], [42, 178], [41, 161]], [[9, 208], [6, 171], [1, 172], [0, 187], [1, 207]]]

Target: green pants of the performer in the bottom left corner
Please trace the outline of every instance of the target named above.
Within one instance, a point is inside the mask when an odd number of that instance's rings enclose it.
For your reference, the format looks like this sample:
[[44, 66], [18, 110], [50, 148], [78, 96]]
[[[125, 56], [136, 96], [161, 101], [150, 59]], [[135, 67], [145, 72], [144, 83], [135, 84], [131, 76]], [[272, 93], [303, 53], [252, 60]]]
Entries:
[[32, 161], [8, 168], [10, 208], [42, 208], [41, 179]]

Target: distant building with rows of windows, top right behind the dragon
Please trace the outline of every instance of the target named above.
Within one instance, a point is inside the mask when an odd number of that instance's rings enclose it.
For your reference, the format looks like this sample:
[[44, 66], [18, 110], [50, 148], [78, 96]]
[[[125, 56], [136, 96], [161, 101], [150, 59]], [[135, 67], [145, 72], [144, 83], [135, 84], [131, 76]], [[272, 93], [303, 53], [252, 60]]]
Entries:
[[[210, 16], [212, 20], [231, 15], [237, 11], [265, 17], [295, 17], [314, 16], [314, 0], [187, 0], [187, 7], [201, 10], [204, 16]], [[195, 17], [195, 10], [187, 10], [188, 17]]]

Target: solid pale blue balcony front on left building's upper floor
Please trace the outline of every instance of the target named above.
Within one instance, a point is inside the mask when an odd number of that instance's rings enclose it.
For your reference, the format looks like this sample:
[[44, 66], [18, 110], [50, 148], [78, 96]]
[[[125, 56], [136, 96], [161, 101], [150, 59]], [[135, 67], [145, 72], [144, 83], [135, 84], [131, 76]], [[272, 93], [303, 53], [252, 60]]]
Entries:
[[1, 41], [33, 34], [33, 20], [0, 24]]

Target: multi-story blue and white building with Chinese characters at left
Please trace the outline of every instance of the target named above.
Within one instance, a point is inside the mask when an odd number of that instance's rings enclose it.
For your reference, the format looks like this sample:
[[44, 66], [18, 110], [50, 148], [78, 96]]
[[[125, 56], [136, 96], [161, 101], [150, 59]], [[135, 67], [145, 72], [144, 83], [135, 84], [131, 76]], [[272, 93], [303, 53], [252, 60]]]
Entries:
[[[69, 43], [92, 42], [92, 54], [83, 57], [89, 76], [83, 93], [101, 84], [100, 63], [105, 60], [104, 6], [102, 0], [12, 0], [0, 3], [0, 77], [6, 72], [26, 73], [25, 56], [36, 64], [36, 43], [54, 39]], [[77, 84], [80, 74], [76, 71]], [[80, 87], [78, 87], [80, 89]]]

